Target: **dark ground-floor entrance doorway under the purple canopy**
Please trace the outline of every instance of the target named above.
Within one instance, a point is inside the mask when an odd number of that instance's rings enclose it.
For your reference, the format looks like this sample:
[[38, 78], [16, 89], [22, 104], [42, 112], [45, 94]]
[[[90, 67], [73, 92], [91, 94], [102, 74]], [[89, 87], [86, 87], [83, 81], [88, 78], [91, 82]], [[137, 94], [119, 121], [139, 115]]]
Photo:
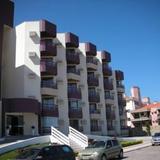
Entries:
[[23, 135], [23, 116], [22, 115], [7, 115], [6, 130], [11, 136]]

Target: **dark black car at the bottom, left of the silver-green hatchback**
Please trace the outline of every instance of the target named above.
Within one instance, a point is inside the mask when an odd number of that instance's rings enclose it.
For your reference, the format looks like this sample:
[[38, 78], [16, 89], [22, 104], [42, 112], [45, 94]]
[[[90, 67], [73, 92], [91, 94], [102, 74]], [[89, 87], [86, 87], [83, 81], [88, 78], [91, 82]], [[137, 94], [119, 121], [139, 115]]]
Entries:
[[75, 154], [67, 145], [50, 145], [26, 149], [16, 160], [75, 160]]

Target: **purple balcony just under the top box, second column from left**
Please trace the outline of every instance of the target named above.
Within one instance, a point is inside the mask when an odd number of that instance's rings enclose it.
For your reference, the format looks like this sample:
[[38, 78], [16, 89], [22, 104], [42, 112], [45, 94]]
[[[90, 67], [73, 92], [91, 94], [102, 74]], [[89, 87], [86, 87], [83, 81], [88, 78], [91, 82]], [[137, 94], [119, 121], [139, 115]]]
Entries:
[[78, 65], [80, 63], [80, 57], [78, 53], [67, 52], [66, 58], [67, 58], [67, 64]]

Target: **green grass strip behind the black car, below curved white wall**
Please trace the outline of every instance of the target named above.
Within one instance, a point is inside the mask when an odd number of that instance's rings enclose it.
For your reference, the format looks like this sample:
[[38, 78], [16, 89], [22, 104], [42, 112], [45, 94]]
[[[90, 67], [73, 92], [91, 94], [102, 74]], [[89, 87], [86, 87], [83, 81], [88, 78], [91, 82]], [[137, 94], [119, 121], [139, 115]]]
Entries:
[[[27, 146], [27, 147], [25, 147], [23, 149], [32, 148], [32, 147], [39, 147], [39, 146], [45, 146], [45, 145], [48, 145], [48, 143], [30, 145], [30, 146]], [[4, 153], [4, 154], [0, 155], [0, 160], [12, 160], [12, 159], [15, 159], [19, 155], [21, 149], [13, 150], [13, 151], [10, 151], [10, 152], [7, 152], [7, 153]]]

